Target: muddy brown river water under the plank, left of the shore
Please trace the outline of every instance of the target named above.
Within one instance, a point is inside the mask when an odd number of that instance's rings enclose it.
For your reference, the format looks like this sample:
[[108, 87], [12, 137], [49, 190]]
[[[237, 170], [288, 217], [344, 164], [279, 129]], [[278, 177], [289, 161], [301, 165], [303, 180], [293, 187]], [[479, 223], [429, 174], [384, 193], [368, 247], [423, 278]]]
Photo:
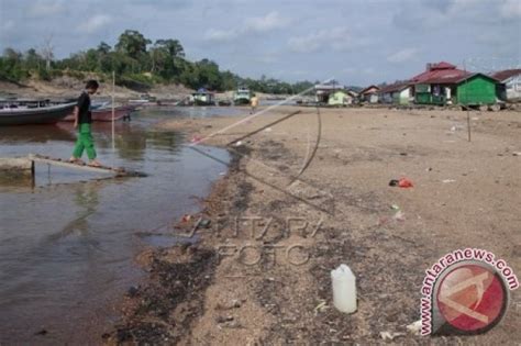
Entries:
[[[110, 124], [95, 124], [100, 160], [146, 178], [93, 180], [100, 176], [38, 165], [35, 187], [0, 186], [0, 344], [101, 341], [118, 316], [114, 302], [143, 277], [135, 255], [169, 245], [165, 225], [197, 211], [196, 197], [225, 171], [188, 148], [182, 133], [149, 130], [179, 115], [187, 114], [148, 110], [119, 123], [115, 152]], [[74, 141], [69, 124], [0, 127], [0, 156], [68, 158]], [[222, 149], [206, 150], [229, 160]], [[155, 230], [163, 235], [142, 236]]]

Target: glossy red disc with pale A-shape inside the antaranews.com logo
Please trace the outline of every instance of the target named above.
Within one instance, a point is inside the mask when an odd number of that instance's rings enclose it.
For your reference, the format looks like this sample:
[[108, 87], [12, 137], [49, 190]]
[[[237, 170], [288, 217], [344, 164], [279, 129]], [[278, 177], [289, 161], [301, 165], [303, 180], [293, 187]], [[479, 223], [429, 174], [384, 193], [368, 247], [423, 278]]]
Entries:
[[505, 315], [508, 293], [501, 277], [480, 264], [465, 264], [441, 281], [437, 306], [445, 321], [463, 333], [483, 333]]

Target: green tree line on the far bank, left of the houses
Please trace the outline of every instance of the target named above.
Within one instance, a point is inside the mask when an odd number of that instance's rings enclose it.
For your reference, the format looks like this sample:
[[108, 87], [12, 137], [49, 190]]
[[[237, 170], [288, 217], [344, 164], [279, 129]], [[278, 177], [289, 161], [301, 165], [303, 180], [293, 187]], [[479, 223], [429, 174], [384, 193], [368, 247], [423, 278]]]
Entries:
[[313, 86], [310, 81], [289, 83], [274, 78], [242, 78], [230, 70], [221, 70], [215, 62], [186, 59], [178, 40], [152, 42], [142, 33], [126, 30], [112, 47], [101, 42], [97, 47], [55, 59], [51, 45], [37, 52], [24, 53], [5, 48], [0, 56], [0, 78], [21, 82], [27, 78], [52, 80], [59, 76], [82, 78], [85, 72], [96, 72], [109, 78], [115, 72], [117, 83], [146, 89], [156, 83], [182, 83], [191, 89], [234, 90], [239, 86], [257, 92], [298, 93]]

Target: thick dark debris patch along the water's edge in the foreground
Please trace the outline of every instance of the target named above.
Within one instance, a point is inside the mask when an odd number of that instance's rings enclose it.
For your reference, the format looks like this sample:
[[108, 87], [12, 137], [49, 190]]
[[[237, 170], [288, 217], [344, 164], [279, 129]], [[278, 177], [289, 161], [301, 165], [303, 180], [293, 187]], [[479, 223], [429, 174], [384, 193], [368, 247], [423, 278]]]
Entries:
[[164, 256], [166, 250], [154, 255], [151, 275], [156, 280], [133, 298], [136, 306], [111, 337], [117, 344], [176, 344], [190, 333], [190, 322], [202, 314], [203, 293], [217, 265], [215, 253], [199, 247], [175, 250], [185, 252], [178, 257], [188, 259], [173, 263]]

